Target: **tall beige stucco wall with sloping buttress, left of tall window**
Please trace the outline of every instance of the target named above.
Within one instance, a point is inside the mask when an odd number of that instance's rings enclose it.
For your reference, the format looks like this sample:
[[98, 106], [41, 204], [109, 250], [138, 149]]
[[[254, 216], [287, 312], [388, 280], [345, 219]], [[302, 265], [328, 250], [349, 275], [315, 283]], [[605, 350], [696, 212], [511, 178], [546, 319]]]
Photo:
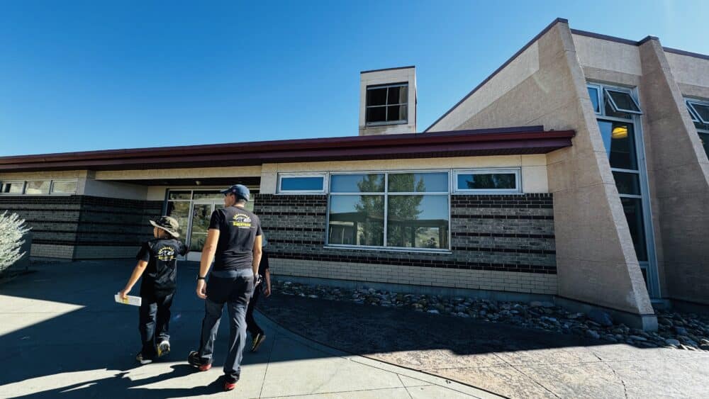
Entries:
[[[467, 100], [480, 101], [477, 108], [469, 108], [479, 111], [465, 117], [454, 111], [432, 130], [510, 125], [575, 130], [572, 147], [547, 154], [549, 191], [554, 193], [559, 296], [640, 315], [640, 324], [652, 328], [656, 320], [580, 59], [596, 69], [604, 64], [596, 60], [598, 49], [593, 43], [584, 41], [582, 47], [583, 54], [577, 54], [569, 26], [557, 23], [537, 40], [536, 47], [527, 49], [538, 52], [537, 71], [498, 93], [492, 102], [478, 94], [480, 89]], [[610, 47], [623, 57], [637, 57], [637, 50]], [[622, 73], [639, 73], [642, 69], [637, 64]]]

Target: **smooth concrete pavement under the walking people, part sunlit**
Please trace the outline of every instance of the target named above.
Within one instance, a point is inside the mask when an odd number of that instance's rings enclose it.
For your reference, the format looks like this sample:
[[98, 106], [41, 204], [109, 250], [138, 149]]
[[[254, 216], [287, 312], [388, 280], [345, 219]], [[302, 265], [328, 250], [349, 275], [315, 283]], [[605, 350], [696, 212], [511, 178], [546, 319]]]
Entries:
[[[267, 340], [246, 354], [232, 393], [219, 379], [228, 326], [222, 322], [215, 368], [195, 373], [184, 359], [203, 315], [195, 264], [180, 266], [173, 305], [172, 354], [138, 366], [137, 308], [118, 305], [133, 262], [36, 266], [0, 283], [0, 398], [493, 398], [469, 386], [324, 347], [259, 317]], [[318, 330], [314, 322], [309, 331]]]

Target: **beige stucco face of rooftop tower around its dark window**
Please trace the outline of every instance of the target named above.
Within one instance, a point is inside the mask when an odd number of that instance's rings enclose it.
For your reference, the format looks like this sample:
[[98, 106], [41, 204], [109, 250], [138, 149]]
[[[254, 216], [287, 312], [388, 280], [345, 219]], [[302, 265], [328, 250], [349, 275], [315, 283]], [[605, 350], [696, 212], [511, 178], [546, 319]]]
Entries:
[[[408, 83], [407, 123], [401, 125], [367, 126], [365, 118], [367, 86], [403, 82]], [[359, 74], [359, 135], [391, 135], [397, 133], [416, 133], [416, 69], [411, 67]]]

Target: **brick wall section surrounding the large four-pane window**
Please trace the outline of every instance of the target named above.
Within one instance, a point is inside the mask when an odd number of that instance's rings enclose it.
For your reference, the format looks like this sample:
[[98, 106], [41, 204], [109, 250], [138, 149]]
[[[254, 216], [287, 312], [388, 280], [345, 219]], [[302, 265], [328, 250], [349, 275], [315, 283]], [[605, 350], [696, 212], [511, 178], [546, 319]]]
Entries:
[[[327, 201], [327, 196], [255, 196], [274, 273], [316, 277], [322, 266], [333, 271], [332, 279], [387, 282], [387, 276], [396, 276], [400, 283], [451, 286], [457, 280], [465, 288], [556, 292], [551, 194], [451, 196], [450, 253], [325, 248]], [[389, 272], [372, 277], [382, 268]], [[431, 271], [452, 280], [430, 280]], [[490, 277], [491, 272], [497, 274]]]

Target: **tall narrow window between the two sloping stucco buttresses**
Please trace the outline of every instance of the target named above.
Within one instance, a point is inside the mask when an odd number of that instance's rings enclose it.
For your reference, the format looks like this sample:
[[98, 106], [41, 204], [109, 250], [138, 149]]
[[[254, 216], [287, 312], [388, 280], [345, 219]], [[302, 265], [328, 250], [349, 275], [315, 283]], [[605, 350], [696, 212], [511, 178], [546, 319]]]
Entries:
[[598, 129], [601, 130], [637, 260], [647, 278], [651, 296], [658, 296], [654, 252], [648, 244], [652, 242], [652, 228], [649, 225], [651, 219], [645, 189], [647, 176], [642, 162], [644, 150], [639, 130], [638, 116], [642, 114], [642, 109], [631, 89], [588, 84], [588, 94], [594, 111], [598, 113]]

